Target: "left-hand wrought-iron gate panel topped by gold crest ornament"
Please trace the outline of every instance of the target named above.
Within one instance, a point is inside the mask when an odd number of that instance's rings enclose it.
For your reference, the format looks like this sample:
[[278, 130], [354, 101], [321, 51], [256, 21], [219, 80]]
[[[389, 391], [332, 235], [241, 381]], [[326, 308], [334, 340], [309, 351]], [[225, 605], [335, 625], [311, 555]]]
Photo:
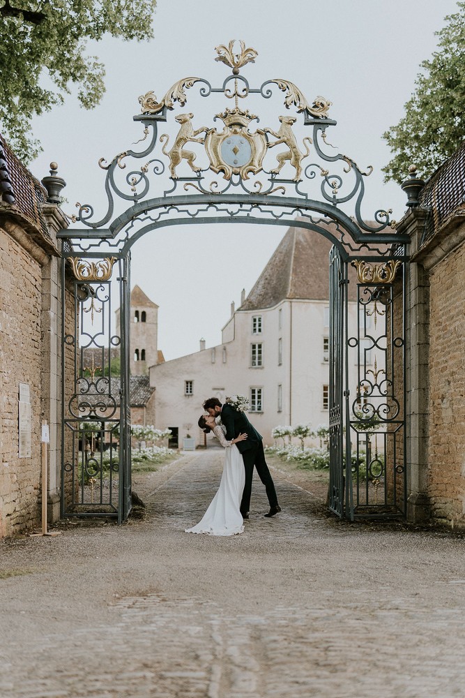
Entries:
[[[68, 248], [62, 261], [61, 507], [65, 516], [103, 515], [117, 517], [121, 523], [130, 512], [131, 484], [126, 311], [130, 255], [91, 261], [72, 255]], [[116, 262], [119, 274], [112, 282]], [[73, 266], [71, 288], [66, 283], [68, 264]], [[112, 334], [118, 289], [119, 326]], [[120, 366], [121, 378], [113, 378]]]

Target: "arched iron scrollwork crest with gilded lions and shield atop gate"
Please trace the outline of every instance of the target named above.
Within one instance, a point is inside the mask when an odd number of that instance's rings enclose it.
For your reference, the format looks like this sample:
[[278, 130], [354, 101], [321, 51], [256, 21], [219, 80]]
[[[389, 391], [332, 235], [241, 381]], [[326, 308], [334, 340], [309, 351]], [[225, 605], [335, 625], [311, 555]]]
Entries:
[[[144, 149], [124, 149], [109, 163], [100, 158], [99, 165], [107, 172], [107, 212], [99, 221], [93, 221], [93, 207], [89, 203], [77, 204], [75, 220], [86, 228], [102, 228], [113, 216], [114, 195], [133, 205], [144, 201], [151, 204], [153, 199], [147, 200], [151, 186], [162, 181], [158, 178], [165, 172], [167, 163], [172, 184], [157, 193], [165, 198], [167, 204], [169, 198], [174, 200], [179, 196], [180, 190], [181, 195], [198, 192], [220, 197], [231, 191], [231, 187], [235, 188], [235, 193], [243, 194], [244, 200], [250, 195], [270, 197], [273, 193], [282, 195], [283, 200], [290, 196], [303, 201], [316, 200], [316, 175], [320, 174], [319, 192], [331, 207], [351, 199], [355, 201], [355, 221], [360, 230], [376, 233], [390, 228], [389, 210], [379, 209], [371, 216], [375, 225], [368, 225], [363, 220], [363, 178], [369, 176], [372, 168], [361, 170], [353, 158], [337, 152], [328, 143], [326, 131], [336, 124], [330, 119], [331, 102], [321, 95], [309, 101], [300, 87], [282, 78], [266, 80], [261, 87], [251, 87], [240, 70], [253, 64], [258, 52], [246, 47], [242, 41], [219, 45], [216, 52], [215, 60], [232, 68], [232, 75], [224, 80], [222, 87], [212, 87], [203, 77], [190, 76], [175, 82], [160, 100], [153, 90], [139, 96], [141, 114], [134, 118], [144, 126], [139, 141], [144, 142]], [[252, 128], [252, 121], [260, 121], [259, 116], [252, 114], [248, 105], [240, 106], [239, 103], [250, 100], [256, 104], [260, 98], [269, 100], [279, 96], [280, 92], [284, 93], [284, 106], [295, 113], [284, 115], [278, 112], [279, 128]], [[233, 107], [224, 108], [223, 105], [223, 109], [213, 117], [213, 121], [221, 119], [222, 131], [208, 124], [205, 117], [196, 117], [193, 111], [183, 111], [170, 119], [171, 126], [177, 126], [175, 133], [158, 135], [159, 122], [168, 121], [169, 112], [185, 107], [191, 96], [195, 96], [197, 104], [199, 96], [216, 98], [218, 95], [234, 101]], [[312, 131], [300, 135], [301, 127], [312, 128]], [[192, 143], [192, 149], [187, 147], [189, 143]], [[311, 153], [320, 158], [320, 162], [316, 159], [304, 167], [304, 160]], [[123, 177], [121, 170], [127, 171], [130, 158], [144, 158], [144, 165]], [[119, 183], [121, 177], [122, 184]], [[316, 185], [317, 191], [313, 193]], [[195, 218], [196, 208], [193, 207], [188, 215]]]

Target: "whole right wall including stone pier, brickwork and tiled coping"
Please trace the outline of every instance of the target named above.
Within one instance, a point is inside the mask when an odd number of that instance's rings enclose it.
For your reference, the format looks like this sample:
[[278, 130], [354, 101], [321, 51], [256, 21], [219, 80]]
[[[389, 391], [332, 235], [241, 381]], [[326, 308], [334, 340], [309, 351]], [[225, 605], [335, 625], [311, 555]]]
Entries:
[[465, 527], [465, 207], [455, 205], [441, 213], [438, 202], [448, 203], [458, 183], [448, 177], [447, 168], [439, 168], [422, 189], [420, 205], [397, 228], [411, 238], [406, 284], [407, 517]]

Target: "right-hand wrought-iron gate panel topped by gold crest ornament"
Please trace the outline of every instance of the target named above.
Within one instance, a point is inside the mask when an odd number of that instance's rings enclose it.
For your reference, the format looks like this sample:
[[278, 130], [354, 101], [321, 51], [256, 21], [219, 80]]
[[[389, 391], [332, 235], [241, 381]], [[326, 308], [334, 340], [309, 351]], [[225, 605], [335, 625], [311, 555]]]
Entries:
[[[355, 353], [349, 399], [351, 473], [356, 516], [406, 512], [405, 312], [403, 276], [395, 257], [355, 260], [357, 322], [347, 338]], [[402, 269], [402, 273], [405, 273]], [[396, 288], [397, 286], [397, 288]]]

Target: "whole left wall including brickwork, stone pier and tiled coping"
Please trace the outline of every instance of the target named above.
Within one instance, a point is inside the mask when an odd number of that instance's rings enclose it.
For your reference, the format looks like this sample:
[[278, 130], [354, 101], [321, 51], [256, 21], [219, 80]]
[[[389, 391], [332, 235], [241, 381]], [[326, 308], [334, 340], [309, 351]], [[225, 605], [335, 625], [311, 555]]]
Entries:
[[[60, 180], [63, 181], [63, 180]], [[63, 211], [0, 136], [0, 537], [40, 526], [42, 425], [49, 521], [60, 516]], [[20, 386], [30, 418], [20, 420]], [[23, 399], [23, 402], [25, 400]], [[22, 406], [24, 408], [24, 406]], [[24, 413], [24, 409], [22, 410]], [[23, 429], [20, 437], [20, 425]], [[30, 433], [30, 449], [24, 450]], [[27, 439], [26, 439], [27, 440]], [[22, 447], [20, 448], [20, 444]]]

